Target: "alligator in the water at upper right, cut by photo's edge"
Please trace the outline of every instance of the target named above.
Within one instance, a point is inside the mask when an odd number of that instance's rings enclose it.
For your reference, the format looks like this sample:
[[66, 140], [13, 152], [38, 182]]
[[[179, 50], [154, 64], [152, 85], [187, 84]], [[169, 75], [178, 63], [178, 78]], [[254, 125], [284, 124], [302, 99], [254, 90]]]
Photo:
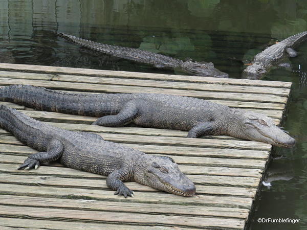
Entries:
[[273, 67], [290, 67], [288, 57], [297, 56], [293, 48], [307, 39], [307, 31], [288, 37], [257, 54], [243, 71], [243, 78], [259, 79]]

